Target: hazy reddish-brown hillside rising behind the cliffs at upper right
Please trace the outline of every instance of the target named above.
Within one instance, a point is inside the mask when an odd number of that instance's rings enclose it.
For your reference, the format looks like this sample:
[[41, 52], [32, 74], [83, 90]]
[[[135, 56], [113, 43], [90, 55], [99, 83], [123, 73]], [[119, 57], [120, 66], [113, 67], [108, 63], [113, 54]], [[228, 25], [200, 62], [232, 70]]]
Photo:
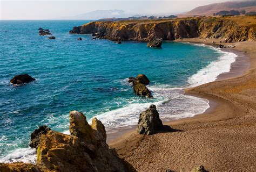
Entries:
[[230, 1], [198, 6], [197, 8], [178, 16], [212, 16], [213, 13], [217, 13], [222, 10], [245, 10], [246, 12], [256, 11], [256, 1]]

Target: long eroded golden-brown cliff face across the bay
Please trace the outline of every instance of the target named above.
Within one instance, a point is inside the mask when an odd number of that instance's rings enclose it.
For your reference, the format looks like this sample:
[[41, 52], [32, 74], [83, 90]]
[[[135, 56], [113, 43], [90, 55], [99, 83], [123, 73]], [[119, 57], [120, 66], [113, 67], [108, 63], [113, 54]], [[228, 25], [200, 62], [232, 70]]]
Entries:
[[149, 41], [153, 38], [174, 40], [182, 38], [227, 38], [232, 41], [255, 40], [253, 28], [239, 26], [225, 18], [192, 18], [147, 21], [93, 21], [74, 27], [70, 33], [98, 33], [109, 40]]

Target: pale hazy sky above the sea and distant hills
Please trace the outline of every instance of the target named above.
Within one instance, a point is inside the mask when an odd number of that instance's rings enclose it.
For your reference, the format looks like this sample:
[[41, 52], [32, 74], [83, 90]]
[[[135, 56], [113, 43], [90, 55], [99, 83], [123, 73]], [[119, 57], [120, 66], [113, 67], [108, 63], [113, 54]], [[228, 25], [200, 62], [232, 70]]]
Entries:
[[217, 2], [225, 0], [0, 0], [0, 19], [58, 19], [95, 10], [113, 9], [124, 10], [131, 15], [175, 15]]

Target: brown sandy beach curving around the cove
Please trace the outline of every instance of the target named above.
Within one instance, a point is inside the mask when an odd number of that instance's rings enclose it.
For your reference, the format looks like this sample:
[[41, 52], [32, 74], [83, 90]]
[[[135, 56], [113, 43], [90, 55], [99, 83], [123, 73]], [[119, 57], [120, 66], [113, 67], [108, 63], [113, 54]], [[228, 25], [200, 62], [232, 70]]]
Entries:
[[[219, 44], [220, 40], [176, 41]], [[109, 144], [120, 157], [138, 171], [190, 171], [200, 164], [209, 171], [256, 171], [256, 42], [224, 45], [234, 45], [236, 51], [246, 54], [250, 68], [242, 76], [231, 74], [233, 78], [220, 77], [220, 81], [185, 90], [186, 94], [207, 98], [211, 110], [165, 124], [179, 132], [127, 132]]]

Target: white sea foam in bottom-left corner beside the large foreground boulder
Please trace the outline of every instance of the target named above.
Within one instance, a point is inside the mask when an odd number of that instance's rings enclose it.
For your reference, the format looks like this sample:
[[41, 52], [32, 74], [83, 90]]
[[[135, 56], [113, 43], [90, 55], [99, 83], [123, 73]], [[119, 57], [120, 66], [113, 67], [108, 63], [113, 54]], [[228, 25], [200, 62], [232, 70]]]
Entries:
[[22, 161], [25, 163], [36, 163], [35, 148], [18, 148], [0, 159], [1, 163], [13, 163]]

